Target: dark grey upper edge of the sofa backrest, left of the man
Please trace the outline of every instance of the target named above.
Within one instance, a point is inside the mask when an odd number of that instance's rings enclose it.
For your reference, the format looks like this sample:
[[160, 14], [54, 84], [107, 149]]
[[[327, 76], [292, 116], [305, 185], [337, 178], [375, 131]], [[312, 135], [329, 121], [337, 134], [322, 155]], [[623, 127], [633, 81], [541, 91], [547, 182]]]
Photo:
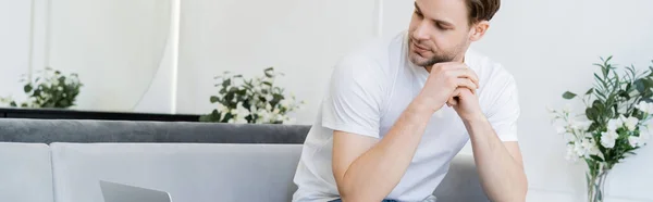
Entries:
[[306, 125], [0, 118], [0, 141], [301, 144], [309, 129]]

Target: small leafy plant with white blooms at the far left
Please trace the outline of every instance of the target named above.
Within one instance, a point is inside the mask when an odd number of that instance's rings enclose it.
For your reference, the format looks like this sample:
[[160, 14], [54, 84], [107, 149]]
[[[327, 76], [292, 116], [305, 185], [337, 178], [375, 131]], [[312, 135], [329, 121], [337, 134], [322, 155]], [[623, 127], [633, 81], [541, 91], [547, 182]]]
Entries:
[[77, 74], [66, 76], [51, 67], [37, 72], [34, 81], [23, 76], [21, 83], [25, 83], [23, 91], [27, 94], [27, 101], [19, 104], [12, 98], [0, 98], [0, 102], [10, 106], [67, 109], [75, 105], [79, 89], [84, 86]]

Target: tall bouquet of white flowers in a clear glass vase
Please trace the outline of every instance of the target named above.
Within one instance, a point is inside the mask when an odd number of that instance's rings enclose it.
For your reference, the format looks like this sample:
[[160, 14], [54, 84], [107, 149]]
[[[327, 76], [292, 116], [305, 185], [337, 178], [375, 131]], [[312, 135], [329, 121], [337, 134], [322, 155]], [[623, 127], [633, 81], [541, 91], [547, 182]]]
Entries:
[[[604, 184], [611, 169], [646, 144], [653, 117], [653, 66], [638, 73], [627, 66], [623, 75], [611, 63], [612, 56], [601, 58], [601, 67], [594, 74], [594, 85], [583, 96], [584, 113], [575, 114], [570, 108], [550, 110], [557, 132], [567, 141], [567, 159], [582, 160], [588, 166], [586, 174], [588, 200], [604, 199]], [[653, 62], [653, 61], [652, 61]], [[565, 92], [564, 99], [577, 98]]]

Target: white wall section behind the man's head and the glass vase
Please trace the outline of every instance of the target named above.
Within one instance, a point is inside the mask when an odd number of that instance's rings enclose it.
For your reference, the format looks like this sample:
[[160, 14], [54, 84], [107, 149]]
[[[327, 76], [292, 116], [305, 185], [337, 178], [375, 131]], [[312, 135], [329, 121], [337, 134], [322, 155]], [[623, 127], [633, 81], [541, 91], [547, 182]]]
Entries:
[[[384, 35], [406, 28], [412, 1], [384, 1]], [[473, 46], [516, 77], [522, 109], [520, 146], [529, 201], [582, 201], [583, 166], [564, 160], [565, 144], [545, 106], [562, 108], [566, 90], [584, 92], [599, 56], [644, 70], [653, 60], [653, 1], [503, 0], [485, 38]], [[582, 105], [574, 103], [576, 109]], [[464, 152], [470, 153], [467, 147]], [[607, 185], [616, 201], [652, 201], [653, 148], [618, 165]], [[580, 197], [580, 198], [578, 198]]]

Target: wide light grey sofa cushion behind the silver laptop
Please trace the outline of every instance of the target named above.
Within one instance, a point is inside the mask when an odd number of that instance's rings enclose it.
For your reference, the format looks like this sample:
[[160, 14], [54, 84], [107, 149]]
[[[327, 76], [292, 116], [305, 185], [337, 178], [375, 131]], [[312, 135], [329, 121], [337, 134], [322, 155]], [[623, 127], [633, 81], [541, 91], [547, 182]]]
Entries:
[[173, 201], [291, 201], [300, 144], [52, 143], [57, 201], [101, 202], [99, 180]]

